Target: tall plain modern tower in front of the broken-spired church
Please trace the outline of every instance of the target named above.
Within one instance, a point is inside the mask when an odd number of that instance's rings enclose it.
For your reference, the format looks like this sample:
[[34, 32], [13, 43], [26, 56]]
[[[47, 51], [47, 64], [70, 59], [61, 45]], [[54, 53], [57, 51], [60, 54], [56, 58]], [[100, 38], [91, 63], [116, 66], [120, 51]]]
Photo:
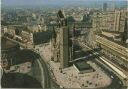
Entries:
[[68, 29], [66, 26], [60, 28], [60, 67], [68, 67], [69, 62], [69, 44]]

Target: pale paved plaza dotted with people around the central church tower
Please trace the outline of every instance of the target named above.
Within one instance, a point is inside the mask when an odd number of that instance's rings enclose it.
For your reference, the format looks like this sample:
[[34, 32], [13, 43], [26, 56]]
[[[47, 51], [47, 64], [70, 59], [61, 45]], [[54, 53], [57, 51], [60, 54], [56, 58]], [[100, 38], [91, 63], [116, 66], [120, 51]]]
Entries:
[[94, 72], [79, 74], [74, 66], [61, 70], [59, 62], [50, 61], [52, 56], [50, 43], [38, 45], [36, 48], [49, 64], [54, 80], [61, 88], [100, 88], [109, 86], [112, 82], [111, 78], [91, 61], [87, 63], [92, 66]]

